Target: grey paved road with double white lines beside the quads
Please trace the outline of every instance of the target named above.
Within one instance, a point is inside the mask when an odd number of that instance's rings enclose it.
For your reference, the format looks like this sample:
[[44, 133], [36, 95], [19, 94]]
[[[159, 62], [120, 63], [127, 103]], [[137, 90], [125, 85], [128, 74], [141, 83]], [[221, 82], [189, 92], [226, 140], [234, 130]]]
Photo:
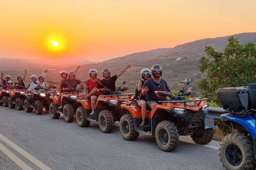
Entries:
[[180, 137], [174, 151], [164, 152], [153, 136], [123, 140], [118, 125], [106, 134], [98, 123], [80, 128], [63, 116], [3, 106], [0, 120], [0, 169], [223, 169], [218, 141], [199, 146]]

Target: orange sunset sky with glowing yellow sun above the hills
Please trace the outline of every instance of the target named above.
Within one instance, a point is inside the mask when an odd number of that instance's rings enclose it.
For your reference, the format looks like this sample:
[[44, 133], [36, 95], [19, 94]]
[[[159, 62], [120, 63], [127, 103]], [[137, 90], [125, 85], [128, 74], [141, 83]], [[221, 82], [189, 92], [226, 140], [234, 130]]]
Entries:
[[255, 0], [2, 0], [0, 58], [104, 61], [256, 32], [255, 7]]

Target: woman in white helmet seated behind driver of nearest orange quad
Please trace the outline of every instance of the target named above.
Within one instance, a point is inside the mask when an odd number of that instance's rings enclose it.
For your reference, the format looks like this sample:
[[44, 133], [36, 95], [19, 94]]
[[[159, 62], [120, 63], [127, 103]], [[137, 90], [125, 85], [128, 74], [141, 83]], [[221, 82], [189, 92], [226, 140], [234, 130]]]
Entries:
[[147, 103], [146, 103], [146, 96], [142, 95], [141, 91], [144, 87], [145, 82], [151, 78], [151, 71], [148, 68], [144, 68], [140, 72], [141, 75], [141, 80], [138, 83], [138, 100], [137, 100], [137, 105], [141, 107], [141, 115], [142, 115], [142, 122], [140, 126], [146, 125], [146, 112], [147, 112]]

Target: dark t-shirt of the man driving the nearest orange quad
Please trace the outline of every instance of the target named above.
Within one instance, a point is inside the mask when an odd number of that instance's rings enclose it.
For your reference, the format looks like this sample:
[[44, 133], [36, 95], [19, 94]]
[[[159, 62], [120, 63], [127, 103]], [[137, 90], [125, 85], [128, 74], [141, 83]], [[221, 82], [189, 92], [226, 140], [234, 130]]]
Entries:
[[[143, 89], [146, 87], [149, 89], [146, 95], [146, 101], [154, 100], [154, 101], [161, 101], [161, 100], [166, 100], [166, 97], [157, 97], [155, 91], [161, 91], [163, 89], [161, 86], [156, 86], [153, 83], [153, 78], [150, 78], [146, 81], [144, 84]], [[160, 81], [161, 85], [168, 91], [171, 91], [169, 86], [167, 85], [166, 81], [164, 79], [161, 79]]]

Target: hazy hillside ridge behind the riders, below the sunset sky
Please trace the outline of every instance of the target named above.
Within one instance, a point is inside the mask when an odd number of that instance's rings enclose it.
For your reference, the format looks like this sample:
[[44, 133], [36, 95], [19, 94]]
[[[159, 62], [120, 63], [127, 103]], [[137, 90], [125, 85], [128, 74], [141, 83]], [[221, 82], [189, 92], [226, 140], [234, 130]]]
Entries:
[[[199, 72], [199, 59], [201, 56], [206, 56], [204, 50], [205, 46], [212, 46], [217, 51], [223, 51], [223, 49], [228, 44], [227, 39], [230, 36], [226, 37], [218, 37], [218, 38], [205, 38], [202, 40], [196, 40], [190, 43], [182, 44], [175, 46], [174, 48], [159, 48], [149, 50], [147, 52], [140, 52], [140, 53], [133, 53], [123, 57], [111, 58], [110, 60], [103, 61], [100, 63], [84, 63], [86, 62], [85, 59], [77, 59], [74, 57], [67, 57], [67, 62], [62, 65], [55, 65], [55, 63], [61, 63], [65, 57], [52, 57], [49, 58], [49, 61], [53, 62], [51, 65], [45, 65], [44, 60], [41, 60], [42, 63], [40, 64], [31, 64], [33, 60], [26, 60], [25, 64], [21, 66], [25, 67], [27, 64], [27, 68], [29, 69], [30, 73], [37, 71], [38, 75], [41, 74], [42, 70], [45, 69], [47, 66], [48, 69], [55, 69], [54, 72], [47, 73], [47, 79], [58, 80], [60, 79], [59, 72], [61, 70], [67, 71], [74, 71], [77, 65], [81, 65], [81, 69], [78, 71], [77, 79], [86, 80], [89, 79], [89, 70], [94, 68], [98, 70], [98, 77], [102, 78], [101, 70], [105, 67], [108, 67], [111, 70], [111, 75], [115, 75], [118, 71], [122, 70], [127, 64], [131, 64], [131, 69], [127, 70], [117, 81], [116, 86], [121, 84], [121, 81], [126, 80], [127, 86], [129, 87], [130, 92], [132, 92], [137, 84], [140, 77], [140, 71], [144, 67], [151, 68], [154, 64], [160, 64], [163, 67], [163, 79], [167, 81], [171, 89], [179, 90], [183, 87], [183, 83], [191, 79], [192, 82], [189, 85], [191, 89], [193, 89], [195, 96], [199, 96], [201, 91], [199, 91], [196, 87], [196, 84], [199, 79], [205, 76], [205, 74]], [[241, 44], [245, 44], [247, 42], [252, 42], [256, 44], [256, 32], [249, 32], [249, 33], [239, 33], [234, 35], [237, 37]], [[56, 60], [53, 60], [56, 59]], [[65, 59], [65, 60], [66, 60]], [[12, 70], [15, 71], [15, 75], [21, 71], [20, 67], [15, 68], [10, 63], [8, 63], [12, 58], [0, 58], [2, 63], [2, 68], [6, 68], [9, 64], [9, 67], [5, 70]], [[48, 60], [48, 59], [47, 59]], [[20, 61], [17, 59], [17, 61]], [[14, 62], [14, 61], [12, 61]], [[20, 61], [24, 62], [24, 61]], [[90, 61], [89, 61], [90, 62]], [[7, 65], [6, 65], [7, 64]], [[40, 70], [40, 71], [38, 71]], [[29, 74], [30, 74], [29, 73]]]

